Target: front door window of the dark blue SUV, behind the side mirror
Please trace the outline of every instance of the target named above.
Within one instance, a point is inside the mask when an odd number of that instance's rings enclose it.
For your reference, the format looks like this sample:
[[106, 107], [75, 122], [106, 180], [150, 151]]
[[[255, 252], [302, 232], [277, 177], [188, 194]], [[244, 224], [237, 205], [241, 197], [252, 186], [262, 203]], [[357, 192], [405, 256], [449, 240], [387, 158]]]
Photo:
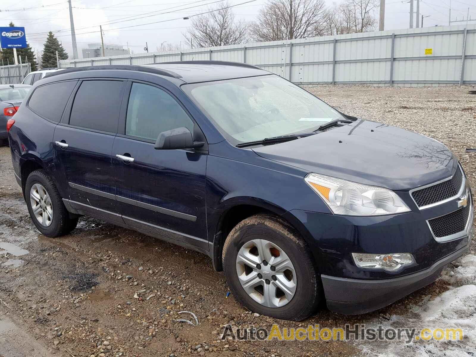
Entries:
[[193, 133], [193, 121], [167, 92], [133, 83], [126, 117], [126, 135], [156, 140], [162, 131], [185, 127]]

